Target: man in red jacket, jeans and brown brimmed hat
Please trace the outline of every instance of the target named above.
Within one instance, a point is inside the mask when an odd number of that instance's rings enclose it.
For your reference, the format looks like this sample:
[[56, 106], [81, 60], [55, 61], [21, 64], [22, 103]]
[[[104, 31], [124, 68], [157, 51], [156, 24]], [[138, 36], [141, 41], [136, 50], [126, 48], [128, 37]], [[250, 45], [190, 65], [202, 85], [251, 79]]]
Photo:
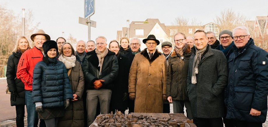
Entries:
[[[31, 35], [31, 40], [34, 41], [34, 48], [26, 50], [20, 57], [17, 70], [17, 78], [24, 83], [25, 102], [27, 108], [27, 123], [28, 127], [37, 127], [38, 117], [36, 105], [33, 103], [33, 72], [34, 66], [43, 59], [43, 43], [50, 40], [50, 36], [43, 30], [38, 30]], [[45, 126], [44, 120], [40, 120], [40, 127]]]

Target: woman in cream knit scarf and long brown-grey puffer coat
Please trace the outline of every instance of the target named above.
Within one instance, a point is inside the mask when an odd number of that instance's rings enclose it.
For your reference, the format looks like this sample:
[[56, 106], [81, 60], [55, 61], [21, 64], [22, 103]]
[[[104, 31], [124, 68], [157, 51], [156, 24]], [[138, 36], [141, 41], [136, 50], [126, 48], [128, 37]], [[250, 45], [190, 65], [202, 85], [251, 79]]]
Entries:
[[64, 43], [59, 54], [59, 61], [66, 66], [71, 88], [73, 90], [73, 100], [70, 106], [65, 109], [64, 117], [58, 122], [60, 126], [84, 126], [84, 107], [82, 94], [84, 91], [84, 75], [81, 64], [76, 60], [75, 51], [70, 43]]

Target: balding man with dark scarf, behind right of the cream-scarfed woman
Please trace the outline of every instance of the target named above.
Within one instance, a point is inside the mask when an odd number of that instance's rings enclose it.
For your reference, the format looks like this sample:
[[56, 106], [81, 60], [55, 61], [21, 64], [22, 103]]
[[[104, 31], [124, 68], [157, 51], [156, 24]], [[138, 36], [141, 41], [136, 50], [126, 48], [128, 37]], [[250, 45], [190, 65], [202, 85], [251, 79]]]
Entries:
[[86, 42], [83, 40], [80, 40], [76, 43], [76, 51], [75, 51], [75, 56], [76, 60], [82, 65], [82, 63], [85, 60], [86, 57]]

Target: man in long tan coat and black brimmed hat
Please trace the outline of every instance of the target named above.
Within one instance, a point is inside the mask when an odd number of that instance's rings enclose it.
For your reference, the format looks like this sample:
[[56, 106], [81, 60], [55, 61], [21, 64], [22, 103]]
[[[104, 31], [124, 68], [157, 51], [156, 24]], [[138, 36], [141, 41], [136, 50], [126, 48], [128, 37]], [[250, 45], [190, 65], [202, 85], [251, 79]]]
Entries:
[[129, 98], [135, 99], [135, 113], [163, 113], [163, 100], [167, 99], [167, 61], [156, 49], [160, 42], [154, 35], [142, 42], [147, 48], [137, 53], [131, 64]]

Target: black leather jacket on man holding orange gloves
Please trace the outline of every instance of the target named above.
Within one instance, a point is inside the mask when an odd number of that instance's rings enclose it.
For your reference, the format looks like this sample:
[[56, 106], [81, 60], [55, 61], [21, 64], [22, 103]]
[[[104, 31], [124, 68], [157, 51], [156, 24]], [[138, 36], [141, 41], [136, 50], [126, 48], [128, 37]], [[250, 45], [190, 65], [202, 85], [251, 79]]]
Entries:
[[95, 90], [93, 83], [98, 79], [104, 80], [100, 89], [112, 89], [114, 86], [113, 81], [116, 79], [118, 74], [118, 61], [115, 53], [108, 50], [107, 55], [103, 59], [101, 75], [99, 75], [99, 60], [95, 50], [87, 52], [87, 55], [90, 56], [86, 57], [87, 59], [85, 59], [84, 63], [82, 63], [82, 70], [85, 78], [85, 89]]

